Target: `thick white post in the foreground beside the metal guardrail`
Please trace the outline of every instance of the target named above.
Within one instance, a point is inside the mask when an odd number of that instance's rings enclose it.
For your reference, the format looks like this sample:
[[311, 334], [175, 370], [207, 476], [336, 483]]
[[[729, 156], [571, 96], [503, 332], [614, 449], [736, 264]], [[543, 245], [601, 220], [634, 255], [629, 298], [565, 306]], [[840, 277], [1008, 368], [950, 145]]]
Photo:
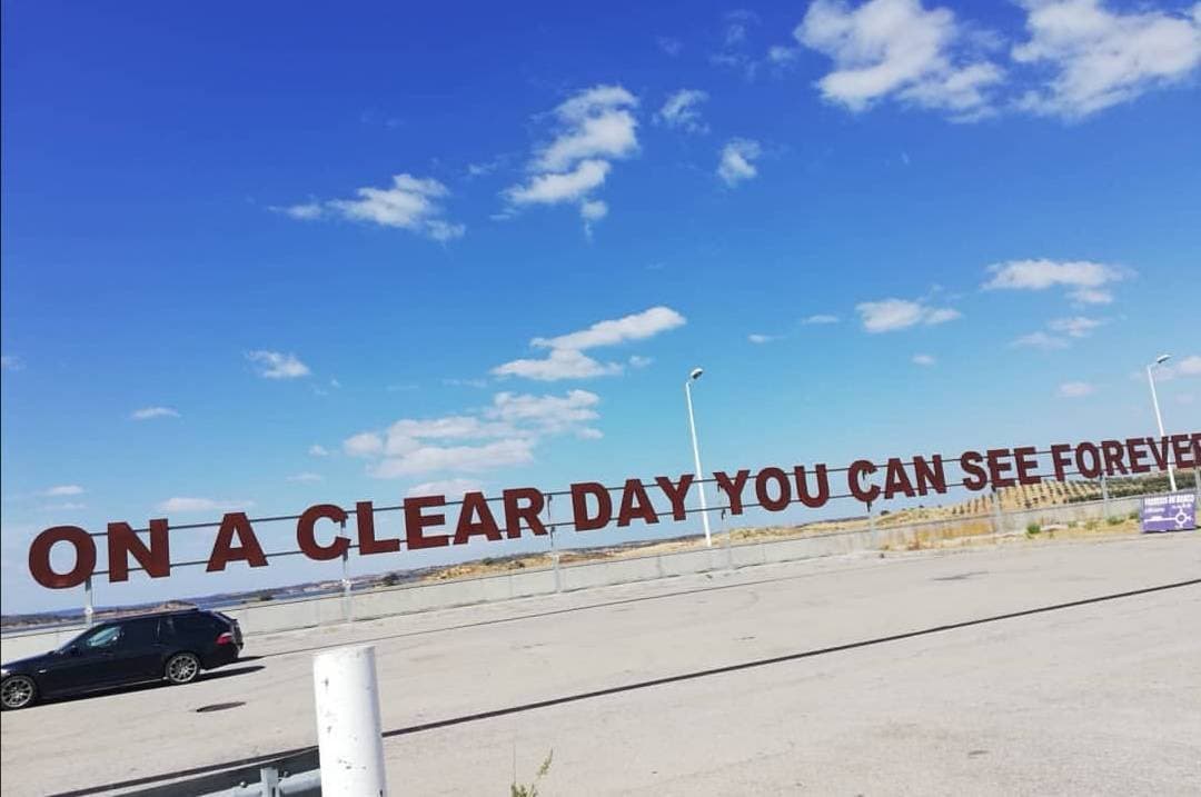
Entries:
[[383, 737], [375, 648], [336, 648], [312, 659], [321, 748], [321, 793], [328, 797], [383, 797]]

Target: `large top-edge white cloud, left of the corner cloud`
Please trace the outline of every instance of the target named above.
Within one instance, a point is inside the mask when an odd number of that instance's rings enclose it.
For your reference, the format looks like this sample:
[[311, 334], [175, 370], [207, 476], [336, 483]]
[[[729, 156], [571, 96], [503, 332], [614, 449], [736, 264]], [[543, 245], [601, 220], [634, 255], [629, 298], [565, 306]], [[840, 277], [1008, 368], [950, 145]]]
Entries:
[[894, 96], [973, 120], [991, 112], [988, 90], [1004, 80], [996, 64], [968, 53], [968, 36], [949, 8], [920, 0], [814, 0], [793, 34], [833, 61], [821, 95], [853, 112]]

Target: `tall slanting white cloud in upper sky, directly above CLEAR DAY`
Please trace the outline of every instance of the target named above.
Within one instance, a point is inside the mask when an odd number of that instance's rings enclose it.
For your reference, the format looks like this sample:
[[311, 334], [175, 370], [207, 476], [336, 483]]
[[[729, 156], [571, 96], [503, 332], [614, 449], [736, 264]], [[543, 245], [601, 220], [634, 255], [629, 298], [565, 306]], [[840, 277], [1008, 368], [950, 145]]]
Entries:
[[597, 85], [569, 97], [554, 116], [554, 138], [536, 149], [525, 184], [506, 188], [510, 206], [580, 203], [585, 229], [608, 206], [591, 198], [613, 168], [613, 161], [638, 152], [638, 98], [620, 85]]

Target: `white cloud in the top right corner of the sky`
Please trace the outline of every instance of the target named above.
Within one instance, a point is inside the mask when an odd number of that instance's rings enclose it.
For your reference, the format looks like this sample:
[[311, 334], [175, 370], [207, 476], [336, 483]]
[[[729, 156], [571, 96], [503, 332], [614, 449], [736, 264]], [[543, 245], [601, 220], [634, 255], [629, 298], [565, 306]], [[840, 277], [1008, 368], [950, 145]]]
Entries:
[[1121, 13], [1101, 0], [1022, 5], [1029, 40], [1011, 55], [1053, 73], [1045, 88], [1021, 98], [1026, 110], [1078, 119], [1178, 83], [1201, 64], [1201, 4], [1183, 13]]

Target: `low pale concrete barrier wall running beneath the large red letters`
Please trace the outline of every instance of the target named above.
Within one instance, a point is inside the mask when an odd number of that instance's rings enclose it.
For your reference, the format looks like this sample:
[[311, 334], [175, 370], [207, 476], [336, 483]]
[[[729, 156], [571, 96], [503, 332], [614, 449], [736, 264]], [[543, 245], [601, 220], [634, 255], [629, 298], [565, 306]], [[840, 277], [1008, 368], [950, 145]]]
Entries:
[[[1115, 498], [1107, 502], [1095, 501], [1006, 513], [1000, 516], [999, 523], [1003, 533], [1023, 533], [1029, 523], [1050, 526], [1091, 520], [1105, 522], [1106, 517], [1125, 517], [1130, 513], [1137, 511], [1140, 502], [1140, 497]], [[988, 520], [993, 527], [997, 525], [996, 516]], [[557, 577], [552, 569], [524, 570], [482, 579], [372, 589], [354, 593], [349, 599], [342, 595], [323, 595], [297, 600], [271, 600], [222, 609], [221, 611], [235, 617], [241, 624], [243, 631], [247, 636], [253, 636], [347, 621], [551, 594], [557, 591], [570, 592], [712, 570], [837, 556], [852, 551], [877, 550], [884, 546], [902, 549], [910, 545], [919, 535], [940, 535], [942, 532], [950, 531], [962, 522], [963, 520], [931, 521], [874, 531], [835, 532], [791, 540], [764, 540], [734, 546], [718, 544], [712, 549], [679, 553], [562, 565]], [[12, 661], [26, 655], [44, 653], [59, 647], [82, 630], [82, 625], [76, 625], [5, 634], [0, 641], [0, 657], [4, 661]]]

